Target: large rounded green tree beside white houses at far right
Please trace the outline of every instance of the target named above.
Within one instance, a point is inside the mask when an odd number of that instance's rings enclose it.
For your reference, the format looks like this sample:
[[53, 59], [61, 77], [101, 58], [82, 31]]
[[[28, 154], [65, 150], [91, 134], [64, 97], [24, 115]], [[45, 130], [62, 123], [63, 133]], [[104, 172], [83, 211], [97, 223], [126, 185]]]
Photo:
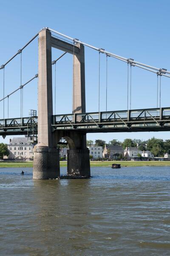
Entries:
[[155, 137], [147, 141], [147, 150], [155, 157], [161, 157], [164, 155], [164, 141], [162, 139], [156, 139]]

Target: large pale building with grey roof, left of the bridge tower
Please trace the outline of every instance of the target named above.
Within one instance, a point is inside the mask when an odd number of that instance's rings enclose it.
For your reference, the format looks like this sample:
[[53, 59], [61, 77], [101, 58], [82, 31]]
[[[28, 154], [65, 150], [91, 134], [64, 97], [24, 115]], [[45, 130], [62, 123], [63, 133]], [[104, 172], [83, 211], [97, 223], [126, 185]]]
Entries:
[[8, 144], [8, 157], [5, 156], [4, 159], [9, 160], [33, 160], [33, 147], [31, 143], [28, 143], [27, 138], [19, 137], [9, 140]]

